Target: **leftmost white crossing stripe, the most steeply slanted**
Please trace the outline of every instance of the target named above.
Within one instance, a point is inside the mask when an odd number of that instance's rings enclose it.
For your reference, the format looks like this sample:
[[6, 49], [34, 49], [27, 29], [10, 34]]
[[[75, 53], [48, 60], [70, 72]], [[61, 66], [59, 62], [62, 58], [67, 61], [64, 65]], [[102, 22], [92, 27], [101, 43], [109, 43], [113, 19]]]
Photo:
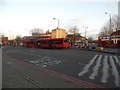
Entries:
[[98, 55], [95, 55], [90, 62], [83, 68], [83, 70], [78, 74], [78, 76], [83, 76], [83, 74], [87, 73], [90, 66], [93, 64], [93, 62], [95, 61], [95, 59], [98, 57]]

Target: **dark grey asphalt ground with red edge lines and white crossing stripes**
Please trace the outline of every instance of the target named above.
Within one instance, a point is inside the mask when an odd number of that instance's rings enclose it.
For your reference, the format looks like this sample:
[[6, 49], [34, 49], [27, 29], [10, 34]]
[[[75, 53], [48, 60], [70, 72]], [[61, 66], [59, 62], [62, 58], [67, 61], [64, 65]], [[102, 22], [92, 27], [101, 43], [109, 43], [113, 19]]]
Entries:
[[5, 46], [2, 56], [3, 88], [120, 87], [120, 56], [115, 54]]

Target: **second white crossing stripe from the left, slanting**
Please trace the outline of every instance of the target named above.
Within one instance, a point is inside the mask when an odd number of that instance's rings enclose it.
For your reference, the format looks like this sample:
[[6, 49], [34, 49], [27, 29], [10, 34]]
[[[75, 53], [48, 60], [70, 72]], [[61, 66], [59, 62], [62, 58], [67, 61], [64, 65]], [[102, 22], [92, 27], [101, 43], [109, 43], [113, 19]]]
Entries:
[[97, 76], [98, 74], [98, 70], [99, 70], [99, 67], [100, 67], [100, 62], [101, 62], [101, 59], [102, 59], [102, 55], [99, 56], [97, 62], [96, 62], [96, 65], [94, 66], [93, 68], [93, 73], [90, 75], [90, 79], [94, 79], [95, 76]]

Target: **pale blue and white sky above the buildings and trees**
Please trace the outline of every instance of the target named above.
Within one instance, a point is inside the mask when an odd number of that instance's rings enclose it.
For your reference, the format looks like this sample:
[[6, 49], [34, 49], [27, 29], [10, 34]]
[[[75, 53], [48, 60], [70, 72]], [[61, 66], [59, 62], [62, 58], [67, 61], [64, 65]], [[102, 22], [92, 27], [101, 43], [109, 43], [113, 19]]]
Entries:
[[[105, 2], [106, 1], [106, 2]], [[109, 12], [118, 14], [119, 0], [0, 0], [0, 33], [7, 36], [29, 35], [29, 30], [38, 27], [44, 31], [57, 27], [69, 30], [78, 26], [84, 36], [82, 26], [88, 27], [87, 37], [96, 38], [100, 28], [109, 20]]]

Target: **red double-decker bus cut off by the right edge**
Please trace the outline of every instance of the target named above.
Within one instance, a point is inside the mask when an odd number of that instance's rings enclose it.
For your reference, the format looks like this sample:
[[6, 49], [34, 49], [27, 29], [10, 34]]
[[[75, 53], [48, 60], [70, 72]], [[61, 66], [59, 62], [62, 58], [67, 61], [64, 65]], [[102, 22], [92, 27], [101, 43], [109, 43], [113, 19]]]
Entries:
[[99, 36], [98, 45], [107, 47], [120, 47], [120, 35]]

